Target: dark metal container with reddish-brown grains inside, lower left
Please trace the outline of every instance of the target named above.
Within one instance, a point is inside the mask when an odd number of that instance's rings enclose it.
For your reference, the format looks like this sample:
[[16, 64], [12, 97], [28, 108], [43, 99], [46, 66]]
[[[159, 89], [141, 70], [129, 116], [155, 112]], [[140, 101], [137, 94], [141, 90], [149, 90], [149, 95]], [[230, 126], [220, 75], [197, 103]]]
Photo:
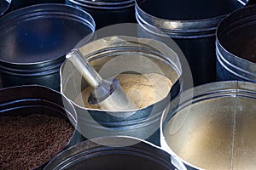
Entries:
[[82, 140], [76, 112], [61, 94], [38, 85], [0, 89], [0, 169], [43, 169]]

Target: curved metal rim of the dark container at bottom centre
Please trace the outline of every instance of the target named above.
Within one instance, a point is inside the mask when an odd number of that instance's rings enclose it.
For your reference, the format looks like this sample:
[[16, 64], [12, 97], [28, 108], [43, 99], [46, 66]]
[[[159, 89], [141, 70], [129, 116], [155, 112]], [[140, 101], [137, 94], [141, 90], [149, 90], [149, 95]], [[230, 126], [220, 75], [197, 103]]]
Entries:
[[[124, 146], [124, 140], [126, 143], [131, 143], [131, 145]], [[149, 153], [146, 150], [147, 148], [151, 148], [151, 147], [153, 150], [159, 150], [156, 153], [157, 155], [154, 155], [153, 153]], [[78, 148], [80, 150], [78, 150]], [[159, 146], [151, 144], [146, 140], [138, 139], [136, 137], [124, 136], [124, 135], [117, 135], [114, 137], [113, 136], [98, 137], [96, 139], [90, 139], [90, 140], [83, 141], [79, 144], [75, 144], [72, 147], [68, 148], [67, 150], [62, 151], [57, 156], [55, 156], [54, 159], [49, 161], [49, 163], [44, 167], [44, 169], [46, 170], [48, 168], [53, 168], [53, 167], [60, 168], [61, 166], [66, 166], [67, 164], [73, 164], [75, 161], [73, 159], [74, 157], [76, 157], [78, 159], [78, 158], [83, 157], [86, 154], [91, 155], [96, 152], [99, 152], [101, 148], [103, 149], [103, 151], [108, 150], [108, 154], [116, 153], [115, 150], [122, 151], [121, 150], [122, 148], [127, 148], [126, 151], [134, 152], [134, 154], [139, 152], [143, 155], [146, 155], [145, 158], [148, 158], [148, 155], [151, 155], [151, 156], [154, 156], [159, 161], [163, 159], [163, 156], [169, 155], [165, 150], [161, 150], [161, 148]], [[87, 150], [87, 152], [89, 151], [89, 153], [86, 153], [86, 150]], [[80, 151], [82, 151], [82, 153], [80, 153]], [[69, 154], [69, 156], [65, 156], [65, 154]], [[128, 153], [128, 154], [130, 155], [131, 153]], [[143, 156], [143, 155], [141, 155], [141, 156]], [[64, 157], [65, 161], [61, 161], [61, 158], [59, 158], [61, 156]], [[162, 160], [165, 164], [170, 163], [172, 166], [179, 167], [179, 169], [181, 169], [181, 170], [186, 169], [186, 167], [184, 167], [184, 165], [183, 165], [183, 162], [176, 160], [176, 158], [173, 157], [172, 155], [169, 155], [169, 156], [170, 156], [171, 162], [169, 162], [167, 160]], [[160, 161], [160, 162], [162, 162], [162, 161]]]

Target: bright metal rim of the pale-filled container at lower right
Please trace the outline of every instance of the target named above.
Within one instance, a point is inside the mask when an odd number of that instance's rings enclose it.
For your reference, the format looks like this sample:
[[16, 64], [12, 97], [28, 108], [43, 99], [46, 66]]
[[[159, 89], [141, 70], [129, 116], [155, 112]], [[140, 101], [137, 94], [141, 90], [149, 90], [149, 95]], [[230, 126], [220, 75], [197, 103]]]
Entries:
[[[191, 97], [191, 93], [194, 93]], [[190, 107], [191, 105], [196, 104], [197, 102], [219, 98], [227, 96], [240, 96], [247, 97], [249, 99], [256, 100], [256, 83], [253, 82], [243, 82], [243, 81], [222, 81], [222, 82], [211, 82], [197, 86], [194, 89], [190, 88], [183, 92], [182, 97], [177, 96], [173, 99], [169, 105], [166, 106], [165, 111], [163, 112], [160, 118], [160, 144], [163, 150], [166, 150], [173, 156], [177, 156], [175, 151], [173, 151], [169, 145], [166, 143], [164, 130], [166, 123], [169, 122], [173, 116], [177, 114], [178, 111], [182, 111], [184, 108]], [[180, 105], [177, 105], [180, 104]], [[189, 162], [183, 160], [179, 156], [178, 159], [183, 161], [185, 164], [190, 167], [195, 167], [200, 169], [195, 165], [190, 164]]]

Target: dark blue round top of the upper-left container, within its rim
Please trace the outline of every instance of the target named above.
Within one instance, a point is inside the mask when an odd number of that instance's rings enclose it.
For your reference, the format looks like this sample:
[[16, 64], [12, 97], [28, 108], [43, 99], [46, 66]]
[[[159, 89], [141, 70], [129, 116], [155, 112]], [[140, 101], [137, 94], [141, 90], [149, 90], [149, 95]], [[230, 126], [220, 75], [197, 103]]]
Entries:
[[58, 59], [95, 30], [81, 9], [64, 4], [38, 4], [0, 19], [0, 60], [31, 64]]

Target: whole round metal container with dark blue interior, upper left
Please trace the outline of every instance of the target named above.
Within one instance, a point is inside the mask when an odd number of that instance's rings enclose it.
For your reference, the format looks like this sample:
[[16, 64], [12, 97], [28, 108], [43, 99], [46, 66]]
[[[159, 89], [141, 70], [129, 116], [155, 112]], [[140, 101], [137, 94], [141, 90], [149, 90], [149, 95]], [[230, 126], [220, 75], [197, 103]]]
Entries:
[[60, 90], [65, 55], [94, 30], [90, 14], [64, 4], [5, 14], [0, 19], [0, 88], [40, 84]]

